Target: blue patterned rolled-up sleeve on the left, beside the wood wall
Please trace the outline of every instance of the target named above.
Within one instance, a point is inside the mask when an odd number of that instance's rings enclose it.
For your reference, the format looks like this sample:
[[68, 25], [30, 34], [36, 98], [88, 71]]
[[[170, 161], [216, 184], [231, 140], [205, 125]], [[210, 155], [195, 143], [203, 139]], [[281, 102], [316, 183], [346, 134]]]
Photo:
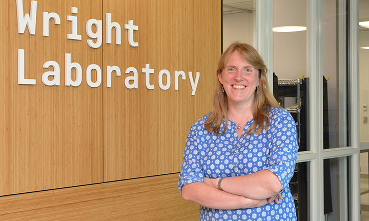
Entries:
[[182, 186], [194, 182], [203, 182], [204, 173], [201, 169], [198, 142], [192, 127], [187, 135], [186, 148], [183, 151], [183, 163], [179, 174], [178, 189], [182, 193]]

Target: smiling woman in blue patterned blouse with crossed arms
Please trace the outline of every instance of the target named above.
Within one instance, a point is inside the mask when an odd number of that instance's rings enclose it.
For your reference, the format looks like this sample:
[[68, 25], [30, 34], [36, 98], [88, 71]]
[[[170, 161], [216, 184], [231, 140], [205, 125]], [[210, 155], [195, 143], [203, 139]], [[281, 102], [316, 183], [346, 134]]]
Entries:
[[213, 111], [190, 129], [178, 182], [200, 220], [296, 220], [296, 125], [266, 73], [250, 45], [233, 43], [220, 57]]

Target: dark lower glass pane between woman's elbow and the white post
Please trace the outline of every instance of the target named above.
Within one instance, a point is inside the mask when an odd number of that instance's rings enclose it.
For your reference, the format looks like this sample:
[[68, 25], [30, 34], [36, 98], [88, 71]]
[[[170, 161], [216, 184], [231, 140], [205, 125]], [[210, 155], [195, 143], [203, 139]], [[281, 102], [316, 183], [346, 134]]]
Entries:
[[310, 220], [310, 214], [308, 212], [308, 205], [310, 204], [309, 195], [309, 162], [303, 162], [296, 164], [294, 176], [290, 182], [290, 189], [295, 201], [297, 220], [307, 221]]

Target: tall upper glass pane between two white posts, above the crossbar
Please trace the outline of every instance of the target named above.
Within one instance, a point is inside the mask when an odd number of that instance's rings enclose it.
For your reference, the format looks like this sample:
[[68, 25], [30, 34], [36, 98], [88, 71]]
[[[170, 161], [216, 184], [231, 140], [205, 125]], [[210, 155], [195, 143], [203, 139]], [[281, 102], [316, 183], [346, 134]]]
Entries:
[[350, 146], [348, 1], [323, 1], [324, 149]]

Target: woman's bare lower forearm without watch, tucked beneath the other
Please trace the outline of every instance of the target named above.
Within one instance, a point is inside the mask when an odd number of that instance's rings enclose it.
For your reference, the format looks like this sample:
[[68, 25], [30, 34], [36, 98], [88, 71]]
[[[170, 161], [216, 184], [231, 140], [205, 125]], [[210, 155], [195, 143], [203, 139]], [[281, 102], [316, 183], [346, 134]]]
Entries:
[[183, 185], [182, 197], [204, 207], [222, 210], [261, 207], [274, 200], [274, 197], [269, 199], [251, 199], [218, 190], [201, 182]]

